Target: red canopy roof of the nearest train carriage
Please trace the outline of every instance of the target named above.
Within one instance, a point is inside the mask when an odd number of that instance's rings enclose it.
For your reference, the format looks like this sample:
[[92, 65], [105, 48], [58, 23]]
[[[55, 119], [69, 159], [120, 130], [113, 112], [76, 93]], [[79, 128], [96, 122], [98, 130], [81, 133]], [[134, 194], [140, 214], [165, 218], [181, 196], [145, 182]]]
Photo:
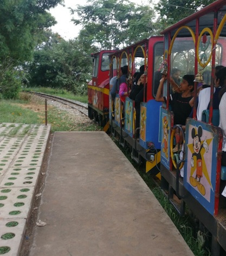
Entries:
[[[196, 13], [190, 15], [189, 17], [184, 18], [183, 20], [177, 22], [173, 26], [164, 29], [160, 34], [164, 35], [167, 33], [171, 33], [173, 36], [179, 27], [188, 26], [193, 32], [196, 31], [196, 20], [199, 18], [199, 34], [202, 32], [203, 28], [211, 28], [214, 22], [214, 15], [217, 11], [217, 26], [221, 23], [224, 15], [226, 14], [226, 1], [225, 0], [217, 0], [214, 3], [209, 4], [203, 9], [197, 11]], [[186, 37], [191, 36], [188, 29], [182, 29], [177, 35], [178, 37]], [[226, 36], [226, 26], [222, 28], [220, 36]]]

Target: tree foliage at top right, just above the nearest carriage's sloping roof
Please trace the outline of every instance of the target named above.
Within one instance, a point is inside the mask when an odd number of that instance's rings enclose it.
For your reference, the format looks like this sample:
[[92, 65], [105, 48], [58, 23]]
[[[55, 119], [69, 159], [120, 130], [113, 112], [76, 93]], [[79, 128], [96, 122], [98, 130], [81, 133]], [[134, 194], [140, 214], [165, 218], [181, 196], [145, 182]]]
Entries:
[[159, 31], [195, 13], [215, 0], [159, 0], [156, 11]]

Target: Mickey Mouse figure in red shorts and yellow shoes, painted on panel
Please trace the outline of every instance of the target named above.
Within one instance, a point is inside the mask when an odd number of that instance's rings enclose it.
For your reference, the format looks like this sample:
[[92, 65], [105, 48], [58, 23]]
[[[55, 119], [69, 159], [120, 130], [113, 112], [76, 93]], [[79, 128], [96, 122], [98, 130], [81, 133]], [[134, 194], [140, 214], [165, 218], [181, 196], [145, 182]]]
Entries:
[[191, 157], [191, 167], [194, 167], [194, 158], [196, 158], [196, 177], [190, 176], [190, 183], [193, 187], [197, 186], [198, 191], [204, 196], [205, 195], [205, 187], [201, 183], [201, 178], [203, 177], [203, 159], [201, 150], [205, 149], [207, 153], [209, 151], [208, 143], [206, 142], [206, 137], [203, 143], [201, 143], [201, 137], [203, 134], [203, 129], [201, 126], [198, 127], [198, 133], [195, 128], [191, 130], [191, 136], [193, 139], [193, 153]]

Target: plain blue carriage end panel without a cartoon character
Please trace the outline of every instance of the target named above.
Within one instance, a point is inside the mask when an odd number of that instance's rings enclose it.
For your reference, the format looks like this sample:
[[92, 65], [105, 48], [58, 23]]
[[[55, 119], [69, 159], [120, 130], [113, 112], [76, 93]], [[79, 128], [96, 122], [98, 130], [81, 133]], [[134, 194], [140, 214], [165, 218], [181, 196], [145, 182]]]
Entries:
[[146, 142], [151, 141], [160, 149], [159, 141], [159, 115], [161, 102], [151, 99], [141, 102], [140, 108], [140, 145], [147, 149]]

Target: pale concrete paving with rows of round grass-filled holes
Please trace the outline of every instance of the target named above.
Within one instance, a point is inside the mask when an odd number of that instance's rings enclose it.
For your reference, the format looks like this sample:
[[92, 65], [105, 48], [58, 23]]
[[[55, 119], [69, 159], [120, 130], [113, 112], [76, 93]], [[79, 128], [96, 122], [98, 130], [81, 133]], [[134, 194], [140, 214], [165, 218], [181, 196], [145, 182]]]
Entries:
[[17, 256], [24, 239], [50, 126], [0, 124], [0, 254]]

